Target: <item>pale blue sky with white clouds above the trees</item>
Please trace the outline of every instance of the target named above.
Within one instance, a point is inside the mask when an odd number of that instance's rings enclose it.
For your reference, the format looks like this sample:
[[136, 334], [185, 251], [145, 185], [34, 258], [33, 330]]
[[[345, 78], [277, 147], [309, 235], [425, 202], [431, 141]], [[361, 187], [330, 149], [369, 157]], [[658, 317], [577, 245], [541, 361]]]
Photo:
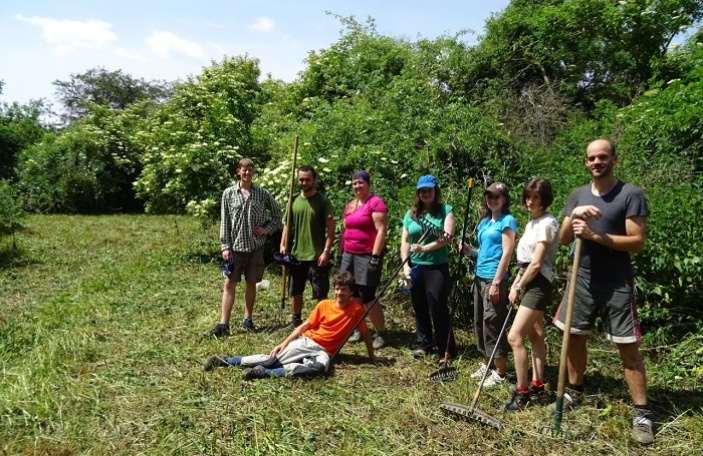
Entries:
[[2, 0], [0, 101], [53, 101], [55, 80], [104, 67], [146, 80], [197, 75], [212, 60], [248, 54], [262, 75], [292, 81], [309, 51], [326, 49], [341, 22], [371, 17], [379, 33], [411, 40], [483, 33], [509, 0]]

